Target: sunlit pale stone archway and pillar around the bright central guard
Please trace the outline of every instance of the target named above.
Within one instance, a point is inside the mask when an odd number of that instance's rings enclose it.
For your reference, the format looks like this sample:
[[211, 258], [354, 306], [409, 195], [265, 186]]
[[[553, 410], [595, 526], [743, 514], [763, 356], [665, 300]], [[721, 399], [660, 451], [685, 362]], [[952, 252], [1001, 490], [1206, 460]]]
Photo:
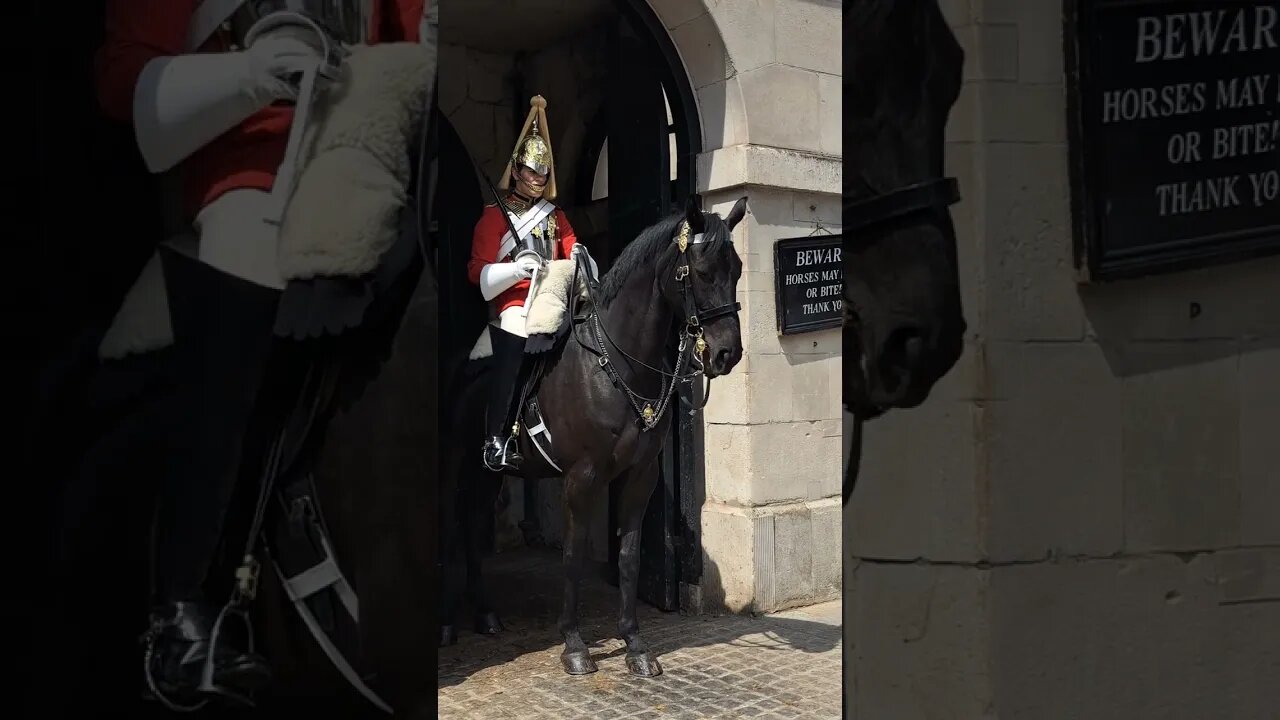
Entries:
[[[722, 380], [705, 411], [684, 420], [672, 443], [680, 457], [672, 471], [684, 474], [676, 496], [684, 533], [678, 546], [691, 559], [687, 574], [681, 570], [681, 583], [691, 593], [682, 605], [769, 610], [827, 600], [838, 592], [838, 571], [832, 570], [838, 569], [838, 552], [827, 548], [838, 546], [835, 498], [842, 433], [838, 389], [828, 388], [828, 377], [840, 364], [840, 333], [777, 337], [771, 332], [772, 246], [778, 237], [840, 229], [841, 55], [835, 22], [840, 5], [836, 0], [553, 5], [475, 0], [466, 4], [467, 18], [458, 20], [460, 27], [444, 9], [440, 63], [460, 69], [442, 74], [442, 110], [484, 172], [497, 177], [529, 96], [544, 95], [561, 197], [570, 202], [581, 199], [580, 186], [594, 179], [598, 164], [586, 146], [599, 137], [590, 126], [604, 106], [608, 83], [602, 77], [605, 51], [594, 61], [581, 54], [590, 31], [603, 29], [603, 19], [621, 13], [658, 49], [671, 124], [677, 140], [684, 138], [673, 159], [672, 197], [698, 193], [705, 210], [727, 211], [737, 197], [750, 195], [736, 243], [745, 264], [744, 348], [746, 363], [758, 368]], [[595, 35], [595, 42], [604, 37]], [[471, 46], [451, 47], [451, 42]], [[552, 65], [563, 72], [544, 72]], [[594, 83], [598, 90], [577, 94], [571, 90], [575, 83]], [[468, 102], [472, 106], [465, 108]], [[573, 205], [566, 211], [575, 229], [588, 237], [607, 236], [608, 204], [586, 192]], [[746, 452], [726, 455], [722, 447]], [[785, 454], [812, 459], [808, 479], [796, 479], [794, 469], [771, 460]], [[516, 514], [532, 505], [545, 507], [554, 495], [548, 489], [545, 497], [527, 502], [527, 495], [511, 489]], [[547, 520], [544, 529], [550, 533], [554, 516]], [[522, 542], [516, 518], [506, 527], [513, 542]], [[804, 561], [808, 551], [795, 547], [800, 537], [813, 537], [813, 546], [823, 548], [812, 562]], [[742, 557], [744, 541], [755, 548], [750, 561]]]

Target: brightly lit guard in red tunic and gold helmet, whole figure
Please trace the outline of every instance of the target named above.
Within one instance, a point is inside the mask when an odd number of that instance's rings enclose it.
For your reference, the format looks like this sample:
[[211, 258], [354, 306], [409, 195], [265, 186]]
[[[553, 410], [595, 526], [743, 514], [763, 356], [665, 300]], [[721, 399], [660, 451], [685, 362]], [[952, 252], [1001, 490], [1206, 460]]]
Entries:
[[[499, 200], [485, 206], [471, 241], [467, 275], [489, 301], [494, 377], [485, 414], [484, 466], [517, 470], [516, 416], [531, 363], [525, 352], [529, 302], [552, 260], [575, 258], [573, 228], [556, 206], [556, 161], [547, 126], [547, 100], [535, 95], [503, 170]], [[588, 256], [590, 260], [590, 256]], [[594, 269], [594, 261], [591, 261]]]

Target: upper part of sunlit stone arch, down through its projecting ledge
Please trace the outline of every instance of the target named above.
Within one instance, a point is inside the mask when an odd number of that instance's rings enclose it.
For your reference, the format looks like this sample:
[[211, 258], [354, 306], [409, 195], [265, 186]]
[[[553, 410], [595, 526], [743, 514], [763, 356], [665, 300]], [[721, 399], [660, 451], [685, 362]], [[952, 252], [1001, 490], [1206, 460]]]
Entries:
[[675, 47], [701, 127], [698, 191], [838, 195], [838, 0], [636, 0]]

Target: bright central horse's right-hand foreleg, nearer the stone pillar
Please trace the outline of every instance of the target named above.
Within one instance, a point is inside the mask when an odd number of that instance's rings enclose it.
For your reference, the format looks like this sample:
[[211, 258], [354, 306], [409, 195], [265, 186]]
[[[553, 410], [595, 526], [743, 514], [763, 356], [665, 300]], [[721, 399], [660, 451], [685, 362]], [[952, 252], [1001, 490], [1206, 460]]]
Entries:
[[618, 589], [622, 596], [618, 614], [618, 637], [627, 643], [627, 670], [641, 678], [662, 675], [662, 665], [640, 639], [636, 619], [636, 596], [640, 584], [640, 528], [649, 497], [658, 484], [658, 464], [634, 468], [623, 480], [618, 498], [618, 525], [622, 542], [618, 548]]

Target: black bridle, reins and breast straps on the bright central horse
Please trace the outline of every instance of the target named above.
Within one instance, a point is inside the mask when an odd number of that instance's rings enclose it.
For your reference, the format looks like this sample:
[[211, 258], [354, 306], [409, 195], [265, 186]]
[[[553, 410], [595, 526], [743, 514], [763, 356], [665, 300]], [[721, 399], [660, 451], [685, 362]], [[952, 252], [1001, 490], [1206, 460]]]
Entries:
[[[626, 350], [622, 350], [622, 346], [618, 345], [617, 341], [609, 337], [608, 331], [604, 329], [604, 322], [600, 319], [599, 305], [595, 304], [594, 293], [591, 292], [591, 283], [585, 283], [588, 288], [588, 299], [591, 301], [593, 305], [591, 315], [588, 318], [588, 322], [590, 322], [594, 325], [595, 329], [594, 340], [596, 347], [595, 348], [588, 347], [588, 345], [584, 343], [581, 338], [577, 337], [577, 332], [573, 333], [573, 337], [575, 340], [577, 340], [579, 345], [581, 345], [584, 348], [591, 352], [595, 352], [599, 356], [598, 363], [600, 368], [609, 374], [609, 380], [616, 387], [618, 387], [623, 392], [623, 395], [627, 396], [627, 400], [631, 401], [631, 407], [636, 411], [637, 416], [636, 419], [637, 423], [640, 424], [641, 432], [653, 429], [662, 419], [662, 416], [666, 414], [667, 407], [671, 402], [671, 396], [676, 391], [677, 382], [689, 383], [692, 382], [692, 379], [696, 378], [698, 375], [704, 374], [703, 368], [705, 365], [703, 363], [703, 354], [707, 351], [707, 341], [703, 340], [703, 327], [710, 320], [716, 320], [726, 315], [736, 315], [737, 311], [742, 309], [742, 304], [736, 300], [733, 302], [726, 302], [723, 305], [717, 305], [714, 307], [707, 307], [707, 309], [698, 307], [698, 299], [694, 296], [694, 284], [692, 282], [689, 281], [690, 269], [689, 269], [687, 251], [690, 245], [699, 245], [703, 242], [703, 233], [696, 233], [692, 237], [690, 237], [690, 233], [691, 228], [689, 225], [689, 220], [681, 220], [680, 232], [672, 240], [672, 242], [675, 242], [676, 247], [680, 250], [680, 259], [682, 260], [682, 263], [676, 266], [675, 277], [676, 282], [678, 283], [681, 305], [684, 307], [684, 318], [685, 318], [684, 319], [685, 327], [684, 332], [681, 332], [680, 336], [680, 347], [677, 351], [678, 354], [676, 356], [676, 369], [673, 373], [668, 373], [660, 368], [654, 368], [653, 365], [649, 365], [644, 360], [634, 357]], [[577, 263], [573, 265], [573, 283], [570, 287], [577, 287], [577, 274], [584, 268], [585, 261], [586, 260], [582, 259], [581, 256], [577, 259]], [[577, 293], [573, 293], [572, 297], [573, 297], [573, 305], [576, 306]], [[573, 315], [576, 315], [576, 311], [572, 313]], [[687, 352], [690, 338], [692, 338], [694, 341], [692, 354]], [[621, 352], [627, 360], [643, 365], [644, 368], [648, 368], [649, 370], [653, 370], [654, 373], [658, 373], [662, 377], [662, 384], [664, 387], [657, 398], [648, 398], [641, 395], [637, 395], [627, 386], [626, 380], [623, 380], [622, 377], [618, 374], [618, 372], [613, 368], [613, 361], [609, 359], [609, 351], [605, 346], [605, 340], [608, 340], [609, 345], [616, 347], [618, 352]], [[684, 366], [686, 364], [692, 364], [694, 359], [696, 359], [699, 368], [695, 369], [692, 373], [689, 373], [687, 375], [681, 374]], [[671, 380], [669, 384], [668, 379]], [[684, 401], [684, 397], [681, 397], [681, 400]], [[685, 401], [685, 404], [690, 406], [689, 413], [690, 415], [692, 415], [699, 410], [701, 410], [703, 407], [705, 407], [709, 400], [710, 400], [710, 379], [707, 380], [705, 392], [703, 392], [703, 401], [700, 405], [692, 406], [692, 404], [687, 401]]]

